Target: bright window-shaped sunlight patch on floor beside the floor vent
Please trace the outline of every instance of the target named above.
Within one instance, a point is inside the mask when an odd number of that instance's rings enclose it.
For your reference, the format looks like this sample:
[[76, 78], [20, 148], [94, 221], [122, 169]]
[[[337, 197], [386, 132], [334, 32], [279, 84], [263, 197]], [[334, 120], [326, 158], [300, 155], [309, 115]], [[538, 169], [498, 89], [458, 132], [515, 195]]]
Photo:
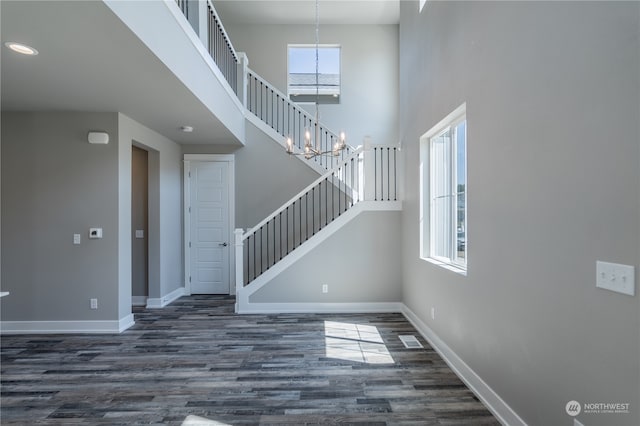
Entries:
[[327, 358], [393, 364], [382, 336], [372, 325], [325, 321], [324, 335]]

